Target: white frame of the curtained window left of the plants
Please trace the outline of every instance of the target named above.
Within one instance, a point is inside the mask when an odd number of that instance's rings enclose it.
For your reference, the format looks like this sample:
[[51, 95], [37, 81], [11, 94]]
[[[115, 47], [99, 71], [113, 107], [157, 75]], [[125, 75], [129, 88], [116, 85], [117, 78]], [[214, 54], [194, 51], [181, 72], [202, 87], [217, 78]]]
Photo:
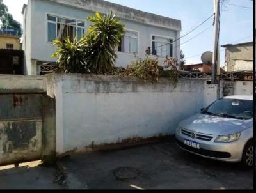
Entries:
[[[54, 22], [54, 21], [48, 20], [48, 16], [55, 17], [56, 21]], [[45, 40], [46, 40], [47, 43], [51, 43], [51, 44], [53, 43], [53, 42], [49, 42], [49, 40], [48, 40], [48, 23], [56, 24], [56, 36], [58, 36], [58, 24], [63, 24], [61, 22], [58, 22], [58, 18], [67, 19], [67, 20], [75, 20], [76, 21], [76, 29], [77, 29], [77, 27], [81, 28], [81, 29], [84, 29], [84, 33], [86, 33], [86, 29], [88, 27], [86, 20], [77, 19], [77, 18], [74, 18], [74, 17], [68, 17], [66, 15], [59, 15], [59, 14], [55, 14], [55, 13], [46, 13], [46, 17], [45, 17], [45, 20], [46, 20], [45, 21], [45, 26], [46, 26], [45, 27]], [[84, 27], [78, 26], [77, 22], [84, 22]]]

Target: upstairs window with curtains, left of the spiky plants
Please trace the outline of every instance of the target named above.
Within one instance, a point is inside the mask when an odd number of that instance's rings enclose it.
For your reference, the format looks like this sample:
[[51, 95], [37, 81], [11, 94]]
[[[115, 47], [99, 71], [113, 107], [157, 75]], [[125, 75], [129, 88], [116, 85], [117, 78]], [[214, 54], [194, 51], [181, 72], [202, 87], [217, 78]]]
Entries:
[[68, 36], [77, 40], [83, 36], [85, 31], [85, 24], [83, 21], [65, 19], [62, 17], [55, 17], [47, 15], [48, 20], [48, 42], [52, 42], [55, 39], [61, 41]]

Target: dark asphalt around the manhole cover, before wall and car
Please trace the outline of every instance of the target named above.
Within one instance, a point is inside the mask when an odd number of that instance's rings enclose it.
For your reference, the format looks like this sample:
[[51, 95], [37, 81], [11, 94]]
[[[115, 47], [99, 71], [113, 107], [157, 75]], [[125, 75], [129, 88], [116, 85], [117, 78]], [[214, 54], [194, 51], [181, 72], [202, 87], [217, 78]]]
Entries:
[[[88, 189], [253, 189], [252, 170], [197, 157], [173, 141], [74, 155], [60, 163], [79, 187]], [[133, 167], [140, 175], [117, 180], [113, 171], [118, 167]]]

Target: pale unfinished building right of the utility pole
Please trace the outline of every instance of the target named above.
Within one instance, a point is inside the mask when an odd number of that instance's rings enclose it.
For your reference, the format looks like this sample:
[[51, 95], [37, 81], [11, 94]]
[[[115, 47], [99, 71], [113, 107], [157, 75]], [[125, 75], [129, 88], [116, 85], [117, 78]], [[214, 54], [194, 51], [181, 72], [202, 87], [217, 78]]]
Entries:
[[253, 42], [222, 45], [225, 47], [225, 70], [253, 70]]

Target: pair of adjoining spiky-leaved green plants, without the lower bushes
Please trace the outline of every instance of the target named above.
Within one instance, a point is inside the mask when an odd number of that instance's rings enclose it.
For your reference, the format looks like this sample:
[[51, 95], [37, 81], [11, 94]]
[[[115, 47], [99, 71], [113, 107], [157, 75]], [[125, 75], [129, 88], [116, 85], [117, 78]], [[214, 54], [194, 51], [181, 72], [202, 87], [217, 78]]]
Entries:
[[93, 24], [81, 40], [54, 40], [58, 50], [52, 57], [58, 57], [62, 72], [108, 74], [113, 71], [117, 58], [115, 47], [125, 33], [124, 25], [112, 12], [104, 17], [96, 12], [88, 20]]

